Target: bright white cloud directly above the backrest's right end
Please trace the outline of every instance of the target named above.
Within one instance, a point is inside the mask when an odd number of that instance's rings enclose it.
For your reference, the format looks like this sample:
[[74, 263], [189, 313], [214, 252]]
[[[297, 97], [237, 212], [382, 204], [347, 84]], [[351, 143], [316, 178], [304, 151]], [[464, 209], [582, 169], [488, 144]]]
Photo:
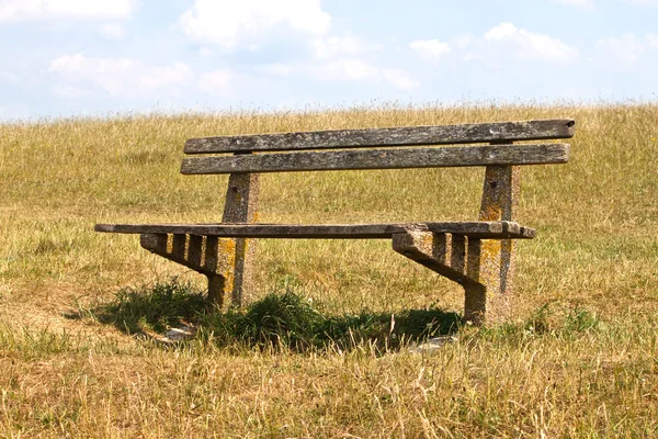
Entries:
[[568, 61], [578, 57], [578, 49], [548, 35], [519, 29], [512, 23], [500, 23], [485, 34], [485, 41], [510, 44], [522, 58]]

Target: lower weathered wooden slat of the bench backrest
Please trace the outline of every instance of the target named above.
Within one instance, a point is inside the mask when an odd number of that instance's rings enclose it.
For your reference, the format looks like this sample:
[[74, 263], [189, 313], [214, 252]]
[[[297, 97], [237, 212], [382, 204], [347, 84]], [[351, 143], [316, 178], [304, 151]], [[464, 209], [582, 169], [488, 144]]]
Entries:
[[185, 158], [181, 173], [295, 172], [564, 164], [567, 144], [304, 151]]

